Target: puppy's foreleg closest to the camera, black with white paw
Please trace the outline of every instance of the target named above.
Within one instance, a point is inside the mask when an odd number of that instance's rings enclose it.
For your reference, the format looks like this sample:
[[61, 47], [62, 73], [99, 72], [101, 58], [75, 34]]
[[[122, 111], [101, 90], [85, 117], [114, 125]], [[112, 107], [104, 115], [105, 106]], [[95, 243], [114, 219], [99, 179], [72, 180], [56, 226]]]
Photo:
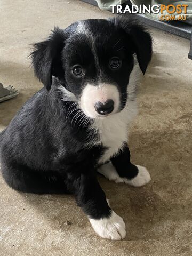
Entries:
[[78, 205], [88, 215], [93, 229], [99, 236], [112, 240], [125, 237], [125, 223], [110, 209], [96, 175], [81, 174], [75, 194]]

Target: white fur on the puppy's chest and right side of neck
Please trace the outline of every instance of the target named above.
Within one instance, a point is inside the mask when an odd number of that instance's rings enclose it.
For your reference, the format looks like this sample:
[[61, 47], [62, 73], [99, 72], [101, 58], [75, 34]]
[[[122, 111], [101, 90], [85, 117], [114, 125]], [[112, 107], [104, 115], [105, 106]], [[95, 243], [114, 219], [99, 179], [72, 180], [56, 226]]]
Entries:
[[123, 146], [123, 142], [128, 141], [128, 129], [132, 119], [137, 115], [136, 90], [140, 82], [141, 71], [136, 64], [130, 75], [127, 86], [127, 102], [124, 109], [114, 115], [103, 119], [95, 119], [92, 129], [99, 133], [99, 143], [106, 147], [105, 153], [99, 159], [99, 163], [104, 163], [114, 156]]

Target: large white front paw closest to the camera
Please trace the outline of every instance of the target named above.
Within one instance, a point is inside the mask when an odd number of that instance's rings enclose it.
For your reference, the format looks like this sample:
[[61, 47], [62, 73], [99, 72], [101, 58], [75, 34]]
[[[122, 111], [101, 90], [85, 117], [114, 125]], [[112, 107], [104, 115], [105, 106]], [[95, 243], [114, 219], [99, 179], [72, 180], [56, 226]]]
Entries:
[[95, 232], [102, 238], [111, 240], [125, 238], [125, 223], [114, 211], [111, 211], [109, 218], [102, 218], [100, 220], [90, 219], [90, 222]]

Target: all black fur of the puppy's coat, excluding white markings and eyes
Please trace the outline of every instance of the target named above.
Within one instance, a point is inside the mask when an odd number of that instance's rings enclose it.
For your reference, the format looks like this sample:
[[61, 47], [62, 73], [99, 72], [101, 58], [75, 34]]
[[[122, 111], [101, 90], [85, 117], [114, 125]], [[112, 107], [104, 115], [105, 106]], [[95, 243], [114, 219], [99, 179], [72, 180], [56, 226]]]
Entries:
[[[133, 54], [137, 54], [143, 73], [150, 61], [150, 35], [141, 26], [122, 18], [87, 20], [85, 24], [94, 35], [103, 70], [102, 80], [117, 84], [122, 95], [122, 109], [133, 68]], [[23, 105], [0, 134], [1, 169], [5, 181], [13, 189], [37, 194], [73, 193], [85, 213], [99, 219], [110, 215], [105, 193], [96, 177], [98, 160], [106, 148], [102, 144], [91, 145], [90, 141], [99, 136], [89, 129], [91, 119], [87, 119], [86, 125], [74, 124], [77, 105], [58, 90], [58, 86], [63, 86], [79, 99], [85, 82], [94, 80], [97, 83], [95, 55], [86, 36], [76, 31], [77, 26], [78, 22], [65, 30], [56, 28], [47, 40], [34, 45], [33, 67], [45, 87]], [[117, 43], [118, 38], [121, 41]], [[108, 68], [111, 52], [122, 59], [121, 70]], [[86, 69], [83, 78], [71, 73], [76, 63]], [[70, 115], [69, 110], [73, 110]], [[83, 111], [80, 115], [84, 118]], [[121, 176], [131, 179], [137, 175], [127, 147], [111, 160]], [[129, 174], [122, 170], [125, 164], [131, 166]]]

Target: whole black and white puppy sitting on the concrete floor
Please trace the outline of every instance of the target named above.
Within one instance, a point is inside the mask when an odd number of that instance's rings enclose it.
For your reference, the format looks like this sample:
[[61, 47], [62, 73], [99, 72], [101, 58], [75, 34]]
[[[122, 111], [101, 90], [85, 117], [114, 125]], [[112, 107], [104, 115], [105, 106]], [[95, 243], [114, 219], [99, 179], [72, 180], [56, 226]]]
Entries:
[[[103, 238], [125, 237], [97, 180], [142, 186], [145, 167], [130, 162], [128, 126], [135, 93], [151, 59], [149, 33], [122, 18], [78, 21], [55, 28], [31, 53], [45, 85], [0, 134], [7, 184], [30, 193], [73, 193]], [[142, 73], [141, 73], [142, 71]]]

